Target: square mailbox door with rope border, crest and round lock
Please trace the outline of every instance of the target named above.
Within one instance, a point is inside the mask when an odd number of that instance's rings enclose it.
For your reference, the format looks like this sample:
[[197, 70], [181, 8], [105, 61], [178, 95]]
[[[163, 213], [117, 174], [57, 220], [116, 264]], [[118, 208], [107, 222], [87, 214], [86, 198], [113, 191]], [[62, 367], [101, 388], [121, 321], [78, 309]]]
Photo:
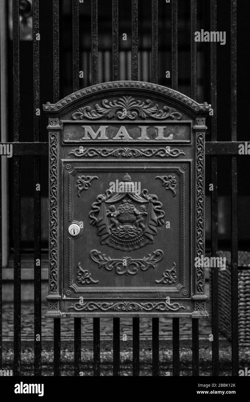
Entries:
[[191, 172], [191, 160], [64, 161], [65, 294], [190, 294]]

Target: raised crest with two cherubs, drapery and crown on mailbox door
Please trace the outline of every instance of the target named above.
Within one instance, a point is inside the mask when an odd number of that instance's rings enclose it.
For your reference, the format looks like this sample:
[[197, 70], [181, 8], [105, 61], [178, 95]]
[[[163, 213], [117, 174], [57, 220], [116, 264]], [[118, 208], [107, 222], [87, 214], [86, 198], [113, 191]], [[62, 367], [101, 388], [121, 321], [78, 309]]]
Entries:
[[105, 194], [98, 195], [89, 212], [90, 223], [97, 227], [101, 244], [125, 251], [152, 244], [165, 216], [157, 195], [148, 194], [146, 189], [138, 194], [129, 185], [131, 183], [132, 179], [126, 173], [119, 183], [122, 190], [108, 189]]

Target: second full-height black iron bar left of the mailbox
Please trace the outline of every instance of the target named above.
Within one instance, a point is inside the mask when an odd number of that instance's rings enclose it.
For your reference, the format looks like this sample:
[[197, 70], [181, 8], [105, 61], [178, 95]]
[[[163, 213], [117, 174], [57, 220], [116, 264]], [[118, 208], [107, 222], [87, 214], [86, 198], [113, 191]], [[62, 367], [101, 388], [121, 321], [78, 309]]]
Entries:
[[[19, 2], [12, 1], [14, 141], [20, 138]], [[14, 375], [21, 369], [20, 157], [14, 156]]]

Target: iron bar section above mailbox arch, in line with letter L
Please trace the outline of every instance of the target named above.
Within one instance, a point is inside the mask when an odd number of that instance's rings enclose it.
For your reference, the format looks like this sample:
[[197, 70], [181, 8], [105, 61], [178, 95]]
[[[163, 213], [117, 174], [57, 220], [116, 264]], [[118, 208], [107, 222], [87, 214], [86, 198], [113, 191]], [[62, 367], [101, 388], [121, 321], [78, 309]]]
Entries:
[[152, 82], [158, 84], [158, 0], [152, 0]]

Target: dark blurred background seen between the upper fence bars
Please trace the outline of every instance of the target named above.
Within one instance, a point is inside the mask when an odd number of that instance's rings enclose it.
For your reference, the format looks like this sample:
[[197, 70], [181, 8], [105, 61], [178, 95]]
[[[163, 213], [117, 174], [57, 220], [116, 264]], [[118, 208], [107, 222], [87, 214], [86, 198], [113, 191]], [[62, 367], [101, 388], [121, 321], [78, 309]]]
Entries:
[[[1, 0], [2, 1], [2, 0]], [[24, 2], [25, 3], [25, 2]], [[25, 5], [25, 4], [24, 4]], [[197, 2], [197, 30], [210, 31], [210, 2]], [[6, 38], [8, 63], [8, 141], [13, 141], [12, 106], [12, 32], [11, 2], [6, 1]], [[73, 92], [72, 89], [72, 2], [60, 1], [60, 98]], [[52, 1], [39, 2], [40, 27], [40, 109], [41, 141], [48, 141], [47, 117], [42, 105], [53, 102], [53, 35]], [[151, 0], [138, 0], [138, 80], [151, 79]], [[31, 29], [32, 29], [32, 16]], [[249, 141], [250, 106], [250, 2], [238, 1], [237, 9], [237, 110], [238, 141]], [[20, 141], [33, 141], [33, 43], [28, 26], [20, 41]], [[217, 140], [230, 141], [230, 2], [217, 2], [217, 31], [226, 31], [226, 45], [217, 44]], [[31, 31], [32, 32], [32, 31]], [[127, 41], [122, 34], [127, 34]], [[119, 79], [131, 79], [131, 1], [119, 1]], [[83, 78], [80, 88], [91, 85], [91, 2], [79, 3], [80, 66]], [[197, 44], [198, 92], [197, 101], [211, 102], [210, 96], [210, 43]], [[190, 96], [190, 0], [178, 1], [178, 90]], [[159, 0], [159, 84], [171, 87], [171, 4]], [[112, 0], [98, 1], [98, 80], [112, 80]], [[213, 106], [212, 106], [213, 107]], [[207, 119], [206, 140], [210, 140], [210, 119]], [[9, 199], [12, 200], [13, 161], [8, 159]], [[206, 156], [206, 201], [205, 201], [205, 246], [210, 248], [210, 158]], [[239, 249], [250, 249], [250, 156], [238, 158], [238, 238]], [[41, 157], [42, 241], [43, 250], [48, 249], [48, 158]], [[33, 248], [33, 157], [21, 158], [21, 236], [22, 251]], [[7, 206], [6, 206], [7, 208]], [[9, 203], [5, 223], [12, 228], [12, 202]], [[219, 248], [230, 248], [230, 156], [218, 157], [218, 231]], [[235, 228], [236, 229], [236, 228]], [[8, 248], [12, 252], [12, 230], [8, 232]]]

